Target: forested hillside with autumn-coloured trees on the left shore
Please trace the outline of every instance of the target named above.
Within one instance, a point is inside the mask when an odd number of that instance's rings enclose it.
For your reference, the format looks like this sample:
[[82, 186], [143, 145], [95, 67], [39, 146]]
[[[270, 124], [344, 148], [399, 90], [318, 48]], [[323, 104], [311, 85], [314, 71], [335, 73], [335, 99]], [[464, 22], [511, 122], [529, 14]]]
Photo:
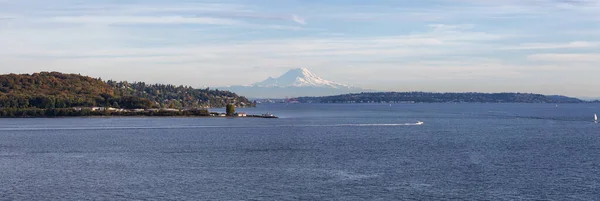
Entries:
[[228, 103], [253, 106], [248, 99], [227, 91], [104, 82], [58, 72], [0, 75], [0, 108], [198, 108], [224, 107]]

